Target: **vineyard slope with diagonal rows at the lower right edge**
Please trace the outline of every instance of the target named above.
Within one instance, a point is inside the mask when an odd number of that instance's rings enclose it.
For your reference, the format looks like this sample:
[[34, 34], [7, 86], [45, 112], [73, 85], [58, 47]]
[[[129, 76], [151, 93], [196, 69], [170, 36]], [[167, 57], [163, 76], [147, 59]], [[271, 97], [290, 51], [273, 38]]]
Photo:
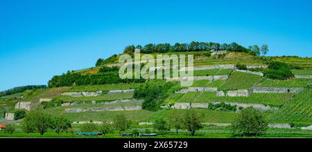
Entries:
[[310, 122], [312, 123], [312, 88], [307, 88], [302, 93], [287, 102], [284, 106], [270, 116], [274, 122]]

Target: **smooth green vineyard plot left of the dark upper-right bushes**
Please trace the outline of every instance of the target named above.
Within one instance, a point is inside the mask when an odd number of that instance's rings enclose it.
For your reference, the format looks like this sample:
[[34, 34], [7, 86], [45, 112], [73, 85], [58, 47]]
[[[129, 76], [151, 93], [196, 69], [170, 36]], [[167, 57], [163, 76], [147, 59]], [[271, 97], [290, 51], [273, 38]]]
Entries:
[[238, 90], [252, 88], [261, 79], [259, 75], [250, 73], [234, 72], [229, 79], [220, 86], [220, 90]]

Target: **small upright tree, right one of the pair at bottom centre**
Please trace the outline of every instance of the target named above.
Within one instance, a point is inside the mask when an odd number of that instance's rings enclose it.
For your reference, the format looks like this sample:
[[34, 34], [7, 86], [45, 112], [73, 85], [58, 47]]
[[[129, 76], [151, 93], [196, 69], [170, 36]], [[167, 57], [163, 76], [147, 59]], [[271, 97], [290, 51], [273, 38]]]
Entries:
[[184, 129], [190, 132], [190, 135], [195, 135], [195, 131], [202, 129], [200, 115], [193, 110], [187, 110], [183, 117]]

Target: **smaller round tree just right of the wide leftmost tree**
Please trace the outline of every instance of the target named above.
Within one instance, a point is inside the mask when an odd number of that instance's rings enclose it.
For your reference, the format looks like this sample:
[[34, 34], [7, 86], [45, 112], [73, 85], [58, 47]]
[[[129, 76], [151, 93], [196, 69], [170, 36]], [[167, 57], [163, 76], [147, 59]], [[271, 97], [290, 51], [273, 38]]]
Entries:
[[58, 135], [71, 128], [71, 121], [64, 116], [55, 116], [52, 118], [51, 122], [51, 128], [54, 129], [55, 132], [58, 133]]

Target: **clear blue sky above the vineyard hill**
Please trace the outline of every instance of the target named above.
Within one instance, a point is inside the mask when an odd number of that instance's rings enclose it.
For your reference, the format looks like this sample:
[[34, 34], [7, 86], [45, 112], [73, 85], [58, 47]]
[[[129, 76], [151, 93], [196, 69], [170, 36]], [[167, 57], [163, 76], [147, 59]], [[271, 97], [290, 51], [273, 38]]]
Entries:
[[312, 1], [0, 2], [0, 91], [47, 84], [129, 44], [268, 44], [268, 55], [312, 56]]

